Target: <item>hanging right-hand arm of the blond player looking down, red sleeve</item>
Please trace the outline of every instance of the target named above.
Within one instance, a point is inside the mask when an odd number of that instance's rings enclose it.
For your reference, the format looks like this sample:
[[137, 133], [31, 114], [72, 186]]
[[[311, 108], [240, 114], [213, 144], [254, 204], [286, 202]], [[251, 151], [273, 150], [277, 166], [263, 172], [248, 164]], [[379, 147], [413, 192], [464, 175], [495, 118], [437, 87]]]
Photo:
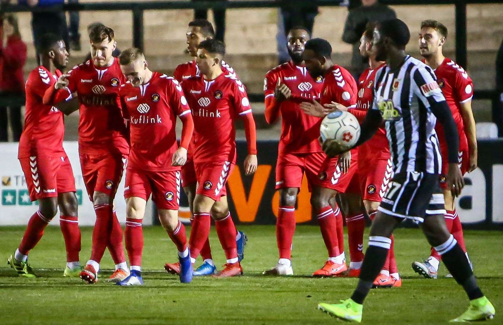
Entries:
[[183, 166], [187, 162], [187, 148], [194, 132], [194, 120], [192, 119], [192, 112], [183, 93], [182, 85], [178, 80], [172, 79], [172, 82], [166, 88], [166, 94], [170, 96], [170, 107], [182, 121], [180, 146], [173, 154], [172, 165]]

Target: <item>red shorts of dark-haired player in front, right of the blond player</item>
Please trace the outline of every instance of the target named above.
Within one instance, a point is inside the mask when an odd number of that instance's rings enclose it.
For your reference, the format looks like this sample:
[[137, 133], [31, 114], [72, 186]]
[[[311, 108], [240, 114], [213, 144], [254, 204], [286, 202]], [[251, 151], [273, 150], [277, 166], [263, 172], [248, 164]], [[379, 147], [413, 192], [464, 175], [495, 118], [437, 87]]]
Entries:
[[196, 194], [207, 196], [215, 201], [220, 201], [220, 197], [227, 195], [225, 185], [234, 169], [232, 162], [196, 162], [194, 167], [197, 175]]

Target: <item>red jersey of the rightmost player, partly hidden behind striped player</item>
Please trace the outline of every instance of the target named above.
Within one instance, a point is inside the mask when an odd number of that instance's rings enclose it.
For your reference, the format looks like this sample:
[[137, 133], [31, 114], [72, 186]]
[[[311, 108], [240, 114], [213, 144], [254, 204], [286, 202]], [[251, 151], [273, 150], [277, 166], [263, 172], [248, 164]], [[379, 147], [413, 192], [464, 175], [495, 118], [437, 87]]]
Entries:
[[[471, 101], [473, 97], [473, 82], [468, 72], [450, 58], [445, 58], [435, 70], [437, 83], [442, 89], [445, 100], [452, 112], [459, 133], [459, 151], [468, 150], [463, 117], [461, 116], [461, 103]], [[437, 123], [435, 131], [441, 145], [445, 145], [444, 128]]]

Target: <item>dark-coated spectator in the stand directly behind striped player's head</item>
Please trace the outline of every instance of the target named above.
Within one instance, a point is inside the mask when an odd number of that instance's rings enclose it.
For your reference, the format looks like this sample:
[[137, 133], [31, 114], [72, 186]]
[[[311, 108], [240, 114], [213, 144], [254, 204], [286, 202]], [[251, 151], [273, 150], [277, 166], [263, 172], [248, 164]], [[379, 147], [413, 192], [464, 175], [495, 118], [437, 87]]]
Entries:
[[362, 58], [358, 49], [365, 26], [368, 22], [380, 22], [392, 18], [396, 18], [393, 9], [379, 4], [377, 0], [362, 0], [361, 7], [349, 11], [344, 25], [343, 41], [353, 45], [350, 71], [357, 80], [360, 74], [368, 68], [368, 61]]

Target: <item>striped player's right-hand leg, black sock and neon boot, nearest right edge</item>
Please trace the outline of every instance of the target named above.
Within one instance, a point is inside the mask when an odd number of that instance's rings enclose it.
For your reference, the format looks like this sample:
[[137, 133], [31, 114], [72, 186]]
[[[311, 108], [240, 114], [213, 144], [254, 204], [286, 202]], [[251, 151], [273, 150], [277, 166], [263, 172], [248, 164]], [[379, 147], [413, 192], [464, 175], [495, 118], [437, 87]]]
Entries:
[[425, 218], [422, 229], [430, 245], [442, 256], [444, 265], [456, 282], [463, 287], [470, 300], [468, 310], [455, 321], [492, 318], [495, 313], [494, 307], [480, 290], [463, 249], [447, 229], [444, 216], [437, 214]]

